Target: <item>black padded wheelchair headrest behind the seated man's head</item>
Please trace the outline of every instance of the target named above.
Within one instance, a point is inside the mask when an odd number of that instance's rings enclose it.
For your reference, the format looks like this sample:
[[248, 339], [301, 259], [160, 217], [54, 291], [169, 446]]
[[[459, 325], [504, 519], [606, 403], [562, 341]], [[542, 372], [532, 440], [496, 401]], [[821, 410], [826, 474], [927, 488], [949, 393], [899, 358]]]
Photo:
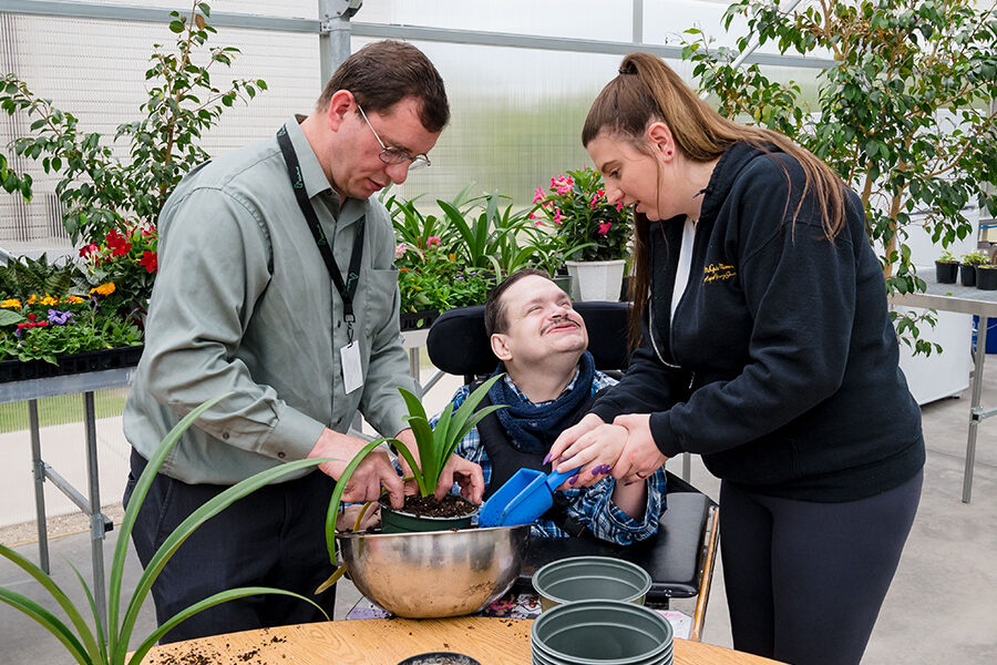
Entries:
[[[574, 303], [588, 330], [588, 350], [597, 369], [626, 369], [629, 303]], [[484, 327], [484, 305], [448, 309], [433, 321], [426, 350], [434, 366], [452, 375], [481, 376], [495, 370]]]

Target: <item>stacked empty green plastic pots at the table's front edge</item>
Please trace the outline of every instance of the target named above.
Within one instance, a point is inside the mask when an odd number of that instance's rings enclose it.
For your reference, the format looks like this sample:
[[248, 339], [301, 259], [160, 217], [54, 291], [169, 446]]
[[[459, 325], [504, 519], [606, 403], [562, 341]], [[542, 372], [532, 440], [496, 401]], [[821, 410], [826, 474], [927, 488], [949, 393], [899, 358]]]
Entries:
[[578, 601], [536, 618], [530, 648], [534, 665], [671, 665], [674, 637], [668, 620], [643, 605]]

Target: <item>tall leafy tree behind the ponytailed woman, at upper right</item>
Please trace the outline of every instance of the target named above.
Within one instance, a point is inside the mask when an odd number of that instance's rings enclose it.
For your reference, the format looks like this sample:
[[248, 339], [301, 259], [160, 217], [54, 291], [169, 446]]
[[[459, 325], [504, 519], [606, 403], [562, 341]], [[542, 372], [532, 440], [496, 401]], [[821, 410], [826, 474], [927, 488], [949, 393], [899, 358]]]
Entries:
[[[883, 265], [890, 293], [924, 290], [906, 245], [914, 213], [943, 247], [973, 228], [963, 209], [980, 205], [991, 215], [997, 200], [997, 18], [994, 7], [970, 0], [860, 0], [813, 3], [783, 13], [771, 0], [740, 0], [724, 27], [743, 16], [748, 32], [781, 52], [829, 51], [814, 102], [793, 82], [777, 83], [761, 69], [733, 69], [748, 48], [710, 49], [687, 31], [683, 58], [700, 88], [715, 93], [728, 117], [780, 131], [824, 160], [859, 192], [866, 229]], [[915, 352], [917, 315], [892, 313], [897, 334]]]

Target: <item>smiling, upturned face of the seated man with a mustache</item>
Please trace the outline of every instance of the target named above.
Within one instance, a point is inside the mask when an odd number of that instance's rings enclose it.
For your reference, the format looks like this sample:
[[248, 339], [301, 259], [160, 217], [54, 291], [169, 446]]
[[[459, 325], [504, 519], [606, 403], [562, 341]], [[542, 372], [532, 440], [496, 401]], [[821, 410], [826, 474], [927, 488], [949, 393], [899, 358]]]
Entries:
[[556, 284], [530, 275], [502, 295], [505, 331], [492, 336], [492, 350], [500, 360], [518, 366], [542, 365], [552, 356], [569, 354], [577, 361], [588, 347], [582, 315]]

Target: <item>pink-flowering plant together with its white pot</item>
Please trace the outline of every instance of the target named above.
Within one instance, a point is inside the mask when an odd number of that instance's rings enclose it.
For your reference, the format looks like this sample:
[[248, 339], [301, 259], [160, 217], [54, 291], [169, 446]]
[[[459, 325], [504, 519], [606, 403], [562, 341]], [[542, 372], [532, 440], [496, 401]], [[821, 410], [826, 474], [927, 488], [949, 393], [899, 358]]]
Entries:
[[549, 223], [565, 238], [568, 274], [575, 278], [576, 299], [617, 300], [623, 282], [631, 211], [610, 204], [603, 176], [590, 167], [555, 175], [545, 192], [534, 191], [532, 215]]

